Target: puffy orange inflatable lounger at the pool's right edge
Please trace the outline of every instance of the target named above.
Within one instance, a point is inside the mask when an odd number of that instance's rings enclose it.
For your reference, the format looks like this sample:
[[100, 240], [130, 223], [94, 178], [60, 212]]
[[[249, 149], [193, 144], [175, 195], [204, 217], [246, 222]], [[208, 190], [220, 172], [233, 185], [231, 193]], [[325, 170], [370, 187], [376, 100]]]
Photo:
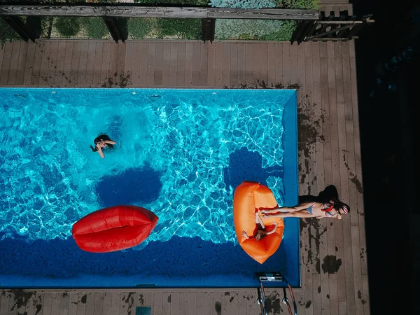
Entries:
[[283, 237], [284, 223], [282, 218], [262, 219], [265, 227], [269, 231], [273, 222], [277, 223], [276, 232], [267, 235], [260, 241], [254, 238], [246, 239], [242, 235], [245, 231], [248, 236], [254, 235], [256, 224], [255, 215], [258, 209], [274, 209], [278, 207], [276, 198], [272, 191], [260, 183], [244, 181], [235, 189], [233, 197], [233, 221], [235, 223], [235, 232], [241, 247], [253, 259], [265, 262], [269, 256], [274, 254], [279, 248]]

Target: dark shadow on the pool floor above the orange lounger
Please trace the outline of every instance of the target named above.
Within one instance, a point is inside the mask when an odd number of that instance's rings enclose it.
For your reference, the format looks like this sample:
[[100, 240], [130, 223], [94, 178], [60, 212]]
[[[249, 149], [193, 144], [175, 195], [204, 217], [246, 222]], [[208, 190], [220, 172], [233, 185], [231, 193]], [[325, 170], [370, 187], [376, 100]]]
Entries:
[[258, 152], [241, 148], [230, 154], [229, 167], [223, 169], [223, 176], [227, 187], [236, 188], [243, 181], [255, 181], [267, 186], [267, 177], [283, 177], [283, 167], [262, 168], [262, 156]]

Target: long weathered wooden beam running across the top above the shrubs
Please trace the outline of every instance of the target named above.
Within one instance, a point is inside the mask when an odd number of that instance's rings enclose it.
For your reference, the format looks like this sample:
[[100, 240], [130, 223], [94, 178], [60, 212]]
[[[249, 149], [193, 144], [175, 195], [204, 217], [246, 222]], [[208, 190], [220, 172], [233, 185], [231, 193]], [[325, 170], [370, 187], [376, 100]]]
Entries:
[[318, 20], [318, 10], [261, 8], [203, 8], [203, 7], [169, 7], [118, 5], [98, 6], [86, 4], [83, 6], [13, 6], [0, 5], [0, 15], [20, 16], [94, 16], [111, 18], [217, 18], [217, 19], [257, 19], [257, 20]]

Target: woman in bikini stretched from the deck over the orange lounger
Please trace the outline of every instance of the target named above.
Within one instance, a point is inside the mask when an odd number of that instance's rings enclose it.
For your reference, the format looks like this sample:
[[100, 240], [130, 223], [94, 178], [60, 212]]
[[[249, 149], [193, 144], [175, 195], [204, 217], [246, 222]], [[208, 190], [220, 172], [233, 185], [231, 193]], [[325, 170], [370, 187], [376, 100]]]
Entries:
[[262, 218], [270, 216], [280, 218], [337, 218], [349, 214], [350, 207], [339, 200], [330, 202], [303, 202], [295, 207], [281, 207], [273, 210], [261, 210]]

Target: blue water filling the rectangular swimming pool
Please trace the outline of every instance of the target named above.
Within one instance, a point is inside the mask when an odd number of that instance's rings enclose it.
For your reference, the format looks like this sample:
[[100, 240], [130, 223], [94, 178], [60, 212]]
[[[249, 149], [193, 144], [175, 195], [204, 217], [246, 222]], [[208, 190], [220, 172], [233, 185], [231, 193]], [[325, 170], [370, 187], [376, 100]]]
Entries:
[[[0, 89], [0, 286], [247, 287], [278, 271], [300, 285], [299, 225], [264, 264], [237, 243], [242, 181], [297, 203], [295, 90]], [[117, 142], [105, 158], [89, 146]], [[81, 251], [73, 223], [134, 204], [158, 225], [134, 248]]]

